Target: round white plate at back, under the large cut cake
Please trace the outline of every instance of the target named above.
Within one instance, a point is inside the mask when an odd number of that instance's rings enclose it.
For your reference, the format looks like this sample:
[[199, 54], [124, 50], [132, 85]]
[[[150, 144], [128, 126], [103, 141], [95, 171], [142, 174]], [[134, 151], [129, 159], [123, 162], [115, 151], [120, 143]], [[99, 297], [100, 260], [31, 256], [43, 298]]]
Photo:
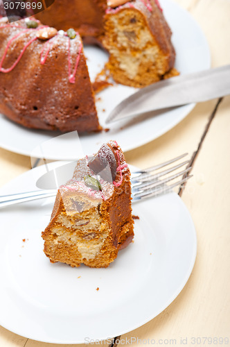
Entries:
[[[209, 69], [211, 65], [209, 46], [201, 28], [197, 25], [186, 10], [180, 8], [170, 0], [161, 0], [164, 15], [172, 28], [172, 42], [177, 52], [176, 68], [181, 74]], [[107, 54], [95, 46], [85, 47], [88, 57], [89, 74], [94, 81], [96, 74], [107, 61]], [[98, 96], [98, 116], [100, 124], [105, 126], [105, 118], [109, 112], [123, 99], [134, 92], [134, 88], [116, 85], [107, 88]], [[16, 91], [15, 91], [16, 92]], [[150, 142], [173, 128], [179, 121], [193, 109], [193, 105], [185, 105], [168, 112], [156, 112], [147, 119], [118, 121], [109, 124], [110, 130], [106, 133], [81, 135], [80, 140], [85, 153], [91, 153], [91, 148], [98, 149], [109, 139], [116, 139], [123, 151], [129, 151]], [[105, 112], [103, 112], [105, 110]], [[105, 126], [107, 128], [108, 126]], [[0, 146], [16, 153], [31, 155], [35, 147], [48, 139], [53, 139], [58, 133], [42, 130], [31, 130], [19, 126], [3, 115], [0, 115]], [[75, 160], [73, 137], [57, 140], [63, 151], [44, 153], [46, 159]]]

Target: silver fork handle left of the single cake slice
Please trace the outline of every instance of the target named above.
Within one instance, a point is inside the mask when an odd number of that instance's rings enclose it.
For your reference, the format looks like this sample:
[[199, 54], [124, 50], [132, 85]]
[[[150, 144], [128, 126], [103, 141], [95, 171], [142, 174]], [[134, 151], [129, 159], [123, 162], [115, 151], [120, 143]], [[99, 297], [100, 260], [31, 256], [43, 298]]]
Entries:
[[48, 198], [50, 196], [55, 196], [56, 194], [56, 190], [50, 192], [47, 192], [46, 190], [39, 190], [35, 192], [26, 192], [7, 196], [0, 196], [0, 208], [5, 208], [9, 205], [15, 205], [16, 203], [24, 203], [26, 201], [37, 200], [39, 198]]

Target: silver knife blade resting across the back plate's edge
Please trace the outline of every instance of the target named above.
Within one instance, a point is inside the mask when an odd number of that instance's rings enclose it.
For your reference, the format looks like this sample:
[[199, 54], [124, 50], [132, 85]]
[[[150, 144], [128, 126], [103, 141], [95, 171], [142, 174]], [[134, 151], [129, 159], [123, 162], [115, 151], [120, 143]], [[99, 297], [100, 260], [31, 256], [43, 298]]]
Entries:
[[119, 103], [106, 124], [155, 110], [199, 103], [230, 94], [230, 65], [175, 76], [143, 87]]

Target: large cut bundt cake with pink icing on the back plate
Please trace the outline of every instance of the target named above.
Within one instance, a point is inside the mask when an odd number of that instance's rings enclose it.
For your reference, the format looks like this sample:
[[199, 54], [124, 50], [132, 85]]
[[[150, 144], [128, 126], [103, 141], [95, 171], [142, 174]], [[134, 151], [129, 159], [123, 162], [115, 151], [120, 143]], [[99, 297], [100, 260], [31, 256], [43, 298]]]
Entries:
[[145, 87], [177, 74], [158, 0], [55, 0], [35, 17], [0, 19], [0, 112], [19, 124], [101, 130], [82, 40], [107, 49], [117, 83]]

